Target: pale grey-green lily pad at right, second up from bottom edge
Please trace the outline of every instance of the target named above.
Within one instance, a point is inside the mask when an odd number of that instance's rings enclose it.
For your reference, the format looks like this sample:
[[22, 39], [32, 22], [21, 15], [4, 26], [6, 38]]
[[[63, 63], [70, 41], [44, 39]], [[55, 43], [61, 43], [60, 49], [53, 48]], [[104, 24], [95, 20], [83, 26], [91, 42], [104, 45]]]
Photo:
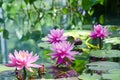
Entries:
[[116, 62], [109, 61], [97, 61], [87, 64], [88, 68], [91, 70], [102, 70], [108, 71], [112, 69], [120, 69], [120, 64]]

